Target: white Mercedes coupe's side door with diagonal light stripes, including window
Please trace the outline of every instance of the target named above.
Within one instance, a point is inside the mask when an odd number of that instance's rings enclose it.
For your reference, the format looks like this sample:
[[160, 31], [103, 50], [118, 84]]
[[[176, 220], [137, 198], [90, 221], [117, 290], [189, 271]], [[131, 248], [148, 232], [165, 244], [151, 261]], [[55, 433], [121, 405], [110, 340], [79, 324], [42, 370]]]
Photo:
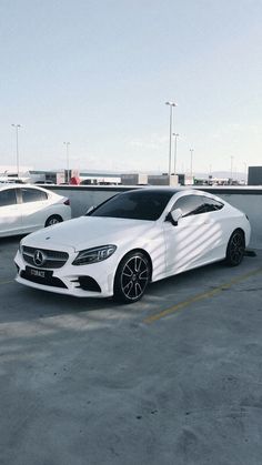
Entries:
[[167, 273], [174, 274], [219, 260], [222, 243], [218, 211], [223, 204], [203, 195], [183, 195], [171, 210], [181, 209], [182, 218], [173, 225], [163, 224], [167, 247]]

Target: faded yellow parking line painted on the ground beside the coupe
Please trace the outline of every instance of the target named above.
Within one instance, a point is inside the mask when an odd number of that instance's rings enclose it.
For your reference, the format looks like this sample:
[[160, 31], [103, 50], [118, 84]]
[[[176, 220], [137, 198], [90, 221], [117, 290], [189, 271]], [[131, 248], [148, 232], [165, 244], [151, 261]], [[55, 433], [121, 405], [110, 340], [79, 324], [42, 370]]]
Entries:
[[245, 281], [249, 277], [254, 276], [255, 274], [260, 274], [260, 273], [262, 273], [262, 269], [253, 270], [250, 273], [243, 274], [242, 276], [235, 277], [234, 280], [231, 280], [228, 283], [224, 283], [224, 284], [221, 284], [218, 287], [214, 287], [212, 291], [203, 292], [202, 294], [196, 294], [196, 295], [194, 295], [193, 297], [191, 297], [187, 301], [180, 302], [179, 304], [173, 305], [170, 309], [167, 309], [167, 310], [163, 310], [160, 313], [157, 313], [155, 315], [148, 316], [147, 319], [143, 320], [143, 323], [147, 323], [147, 324], [153, 323], [158, 320], [163, 319], [164, 316], [168, 316], [168, 315], [177, 312], [178, 310], [181, 310], [181, 309], [184, 309], [188, 305], [191, 305], [194, 302], [202, 301], [202, 300], [208, 299], [208, 297], [212, 297], [213, 295], [219, 294], [223, 290], [230, 289], [234, 284], [241, 283], [242, 281]]

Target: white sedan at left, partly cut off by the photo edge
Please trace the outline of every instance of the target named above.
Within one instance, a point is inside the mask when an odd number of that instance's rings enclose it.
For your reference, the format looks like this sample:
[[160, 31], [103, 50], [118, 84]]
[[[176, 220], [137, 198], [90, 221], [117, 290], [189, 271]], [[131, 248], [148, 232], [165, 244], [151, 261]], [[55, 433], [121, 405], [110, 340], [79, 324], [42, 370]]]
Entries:
[[0, 237], [71, 219], [69, 199], [31, 184], [0, 185]]

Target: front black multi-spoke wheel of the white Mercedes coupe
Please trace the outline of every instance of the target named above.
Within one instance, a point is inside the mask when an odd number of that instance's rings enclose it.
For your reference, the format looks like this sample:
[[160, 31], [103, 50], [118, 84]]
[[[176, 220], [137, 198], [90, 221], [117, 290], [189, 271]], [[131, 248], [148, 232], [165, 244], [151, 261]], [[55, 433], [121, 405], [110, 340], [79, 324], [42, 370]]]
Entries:
[[138, 302], [150, 279], [149, 259], [141, 252], [130, 252], [119, 264], [114, 279], [114, 299], [122, 303]]

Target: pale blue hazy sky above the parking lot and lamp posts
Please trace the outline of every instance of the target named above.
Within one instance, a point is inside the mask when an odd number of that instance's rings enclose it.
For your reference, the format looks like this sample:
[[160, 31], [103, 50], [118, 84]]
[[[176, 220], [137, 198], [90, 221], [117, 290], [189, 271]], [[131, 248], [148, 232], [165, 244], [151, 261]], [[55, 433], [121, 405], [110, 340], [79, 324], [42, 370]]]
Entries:
[[[262, 165], [262, 0], [0, 0], [0, 165]], [[174, 138], [172, 143], [174, 143]], [[193, 149], [193, 152], [190, 152]], [[173, 160], [173, 153], [172, 153]]]

